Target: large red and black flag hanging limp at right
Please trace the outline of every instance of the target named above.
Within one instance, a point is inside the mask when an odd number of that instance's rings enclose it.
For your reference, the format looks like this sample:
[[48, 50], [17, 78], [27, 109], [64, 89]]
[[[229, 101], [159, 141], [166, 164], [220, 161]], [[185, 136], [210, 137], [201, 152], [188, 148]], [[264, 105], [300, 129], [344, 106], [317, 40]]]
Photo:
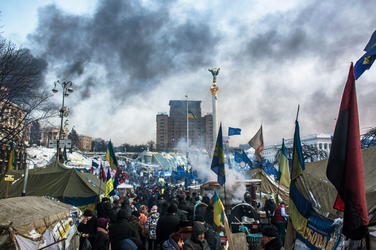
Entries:
[[326, 176], [338, 191], [333, 208], [344, 212], [342, 234], [352, 240], [361, 240], [368, 232], [368, 216], [352, 63], [334, 130]]

